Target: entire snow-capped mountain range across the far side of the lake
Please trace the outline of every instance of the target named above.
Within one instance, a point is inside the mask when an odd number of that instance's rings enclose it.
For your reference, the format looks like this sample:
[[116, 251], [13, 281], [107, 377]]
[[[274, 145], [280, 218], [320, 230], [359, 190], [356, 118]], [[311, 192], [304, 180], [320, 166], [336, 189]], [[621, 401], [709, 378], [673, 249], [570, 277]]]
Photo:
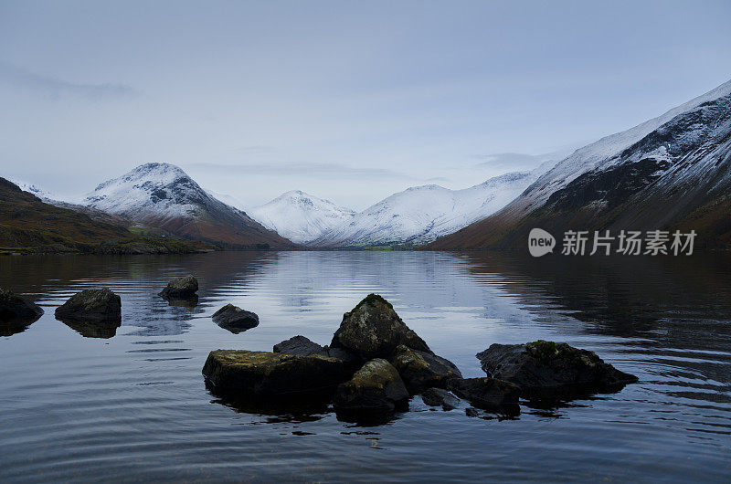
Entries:
[[[91, 232], [127, 237], [132, 231], [223, 248], [522, 248], [533, 227], [558, 237], [569, 229], [695, 229], [700, 245], [728, 247], [730, 137], [731, 81], [558, 163], [461, 190], [415, 186], [362, 212], [301, 191], [243, 207], [168, 163], [142, 164], [98, 185], [79, 204], [34, 185], [23, 188], [37, 195], [28, 194], [31, 205], [43, 204], [34, 205], [37, 214], [44, 207], [77, 212], [101, 224]], [[5, 192], [16, 196], [7, 186]], [[13, 220], [5, 222], [21, 221]]]

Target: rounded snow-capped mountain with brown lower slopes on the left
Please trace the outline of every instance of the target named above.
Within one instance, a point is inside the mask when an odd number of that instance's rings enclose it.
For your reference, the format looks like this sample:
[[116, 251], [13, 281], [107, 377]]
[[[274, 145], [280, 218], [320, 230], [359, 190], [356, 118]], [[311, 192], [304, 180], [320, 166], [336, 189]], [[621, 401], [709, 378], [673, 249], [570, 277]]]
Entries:
[[97, 186], [83, 203], [181, 237], [237, 247], [290, 245], [168, 163], [140, 165]]

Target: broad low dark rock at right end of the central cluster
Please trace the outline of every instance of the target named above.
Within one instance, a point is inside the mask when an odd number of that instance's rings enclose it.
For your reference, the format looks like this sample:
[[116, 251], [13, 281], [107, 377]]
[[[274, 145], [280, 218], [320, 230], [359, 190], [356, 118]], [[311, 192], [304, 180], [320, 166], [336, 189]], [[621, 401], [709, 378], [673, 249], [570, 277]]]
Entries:
[[637, 377], [604, 363], [595, 352], [565, 342], [493, 344], [477, 353], [482, 370], [517, 384], [530, 398], [617, 391]]

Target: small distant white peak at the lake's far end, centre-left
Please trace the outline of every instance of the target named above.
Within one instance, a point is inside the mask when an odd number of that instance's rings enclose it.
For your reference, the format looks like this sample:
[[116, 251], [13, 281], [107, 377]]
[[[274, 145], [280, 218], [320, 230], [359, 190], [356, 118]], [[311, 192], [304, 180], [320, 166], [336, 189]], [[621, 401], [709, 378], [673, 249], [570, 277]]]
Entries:
[[250, 208], [249, 216], [281, 237], [303, 244], [335, 227], [347, 224], [355, 211], [299, 190], [287, 192], [267, 204]]

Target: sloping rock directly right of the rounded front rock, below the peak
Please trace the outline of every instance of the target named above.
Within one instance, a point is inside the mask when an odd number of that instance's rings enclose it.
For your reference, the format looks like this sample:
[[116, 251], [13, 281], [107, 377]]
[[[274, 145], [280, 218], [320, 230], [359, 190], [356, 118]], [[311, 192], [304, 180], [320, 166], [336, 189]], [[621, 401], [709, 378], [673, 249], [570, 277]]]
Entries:
[[417, 395], [431, 386], [444, 388], [450, 378], [462, 377], [457, 366], [449, 360], [403, 344], [397, 346], [390, 362], [396, 367], [411, 395]]

